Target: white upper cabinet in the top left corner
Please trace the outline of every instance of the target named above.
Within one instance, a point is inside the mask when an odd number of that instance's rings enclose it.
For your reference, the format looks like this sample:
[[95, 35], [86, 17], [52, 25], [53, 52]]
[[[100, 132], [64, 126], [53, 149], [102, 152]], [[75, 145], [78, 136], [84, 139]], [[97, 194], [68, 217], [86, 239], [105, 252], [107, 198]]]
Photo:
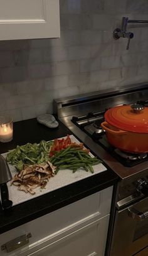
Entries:
[[0, 0], [0, 40], [57, 37], [59, 0]]

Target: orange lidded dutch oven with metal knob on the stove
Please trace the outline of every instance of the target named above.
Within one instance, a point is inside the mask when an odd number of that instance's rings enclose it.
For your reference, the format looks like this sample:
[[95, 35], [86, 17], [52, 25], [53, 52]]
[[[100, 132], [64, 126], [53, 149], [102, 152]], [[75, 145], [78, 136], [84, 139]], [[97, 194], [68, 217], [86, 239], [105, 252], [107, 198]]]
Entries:
[[148, 152], [148, 107], [134, 104], [108, 109], [101, 126], [110, 144], [120, 150]]

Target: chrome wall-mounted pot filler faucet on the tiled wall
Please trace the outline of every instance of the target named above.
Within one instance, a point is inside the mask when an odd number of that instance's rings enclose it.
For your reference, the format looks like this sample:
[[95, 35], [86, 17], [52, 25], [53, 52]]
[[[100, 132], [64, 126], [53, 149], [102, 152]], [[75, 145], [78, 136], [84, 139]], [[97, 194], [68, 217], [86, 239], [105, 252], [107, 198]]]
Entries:
[[127, 23], [147, 23], [148, 24], [148, 21], [141, 21], [137, 19], [129, 19], [128, 17], [123, 17], [121, 29], [116, 28], [114, 30], [113, 36], [115, 40], [119, 39], [120, 37], [128, 39], [126, 50], [129, 50], [130, 39], [134, 38], [134, 33], [127, 32]]

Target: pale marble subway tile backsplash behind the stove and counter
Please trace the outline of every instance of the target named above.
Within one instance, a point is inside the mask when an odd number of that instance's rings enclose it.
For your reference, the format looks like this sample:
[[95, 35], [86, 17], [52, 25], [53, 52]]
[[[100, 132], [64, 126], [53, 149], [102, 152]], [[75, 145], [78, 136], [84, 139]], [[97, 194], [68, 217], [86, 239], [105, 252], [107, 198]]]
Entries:
[[148, 19], [147, 0], [60, 0], [61, 38], [0, 41], [0, 115], [53, 113], [53, 99], [148, 80], [147, 26], [114, 40], [123, 16]]

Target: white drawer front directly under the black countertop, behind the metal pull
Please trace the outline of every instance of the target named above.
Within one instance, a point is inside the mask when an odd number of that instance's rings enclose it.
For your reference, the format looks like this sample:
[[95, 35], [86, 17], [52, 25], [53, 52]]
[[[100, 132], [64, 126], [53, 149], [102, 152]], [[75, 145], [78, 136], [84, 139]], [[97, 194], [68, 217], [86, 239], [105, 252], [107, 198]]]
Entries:
[[[28, 245], [31, 246], [33, 243], [53, 235], [53, 233], [62, 233], [65, 230], [70, 230], [71, 225], [77, 227], [80, 224], [85, 225], [85, 223], [98, 220], [110, 213], [111, 200], [112, 187], [103, 189], [82, 200], [78, 200], [75, 203], [71, 203], [59, 210], [48, 213], [47, 215], [36, 218], [33, 221], [29, 221], [24, 225], [1, 234], [1, 245], [30, 232], [32, 237], [29, 238]], [[26, 248], [26, 245], [22, 248]], [[22, 249], [20, 248], [9, 254], [7, 253], [7, 255], [17, 255], [19, 250]], [[1, 252], [1, 256], [3, 255], [6, 255], [5, 251]]]

